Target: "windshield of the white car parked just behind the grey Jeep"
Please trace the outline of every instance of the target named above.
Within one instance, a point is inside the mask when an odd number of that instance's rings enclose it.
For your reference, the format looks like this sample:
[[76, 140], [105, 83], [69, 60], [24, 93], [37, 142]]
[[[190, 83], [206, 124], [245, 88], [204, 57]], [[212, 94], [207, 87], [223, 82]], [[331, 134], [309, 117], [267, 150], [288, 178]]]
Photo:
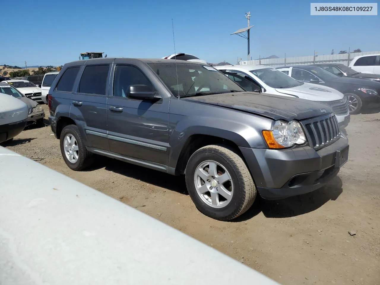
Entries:
[[304, 84], [274, 68], [261, 68], [250, 72], [272, 88], [292, 88]]

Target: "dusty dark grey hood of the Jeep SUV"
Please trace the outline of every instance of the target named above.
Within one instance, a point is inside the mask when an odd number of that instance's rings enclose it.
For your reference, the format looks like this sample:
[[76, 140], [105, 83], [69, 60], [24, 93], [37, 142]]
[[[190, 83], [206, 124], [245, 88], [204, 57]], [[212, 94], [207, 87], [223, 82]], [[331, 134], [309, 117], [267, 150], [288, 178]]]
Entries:
[[273, 120], [304, 120], [331, 113], [329, 106], [303, 99], [256, 92], [233, 92], [183, 98], [268, 117]]

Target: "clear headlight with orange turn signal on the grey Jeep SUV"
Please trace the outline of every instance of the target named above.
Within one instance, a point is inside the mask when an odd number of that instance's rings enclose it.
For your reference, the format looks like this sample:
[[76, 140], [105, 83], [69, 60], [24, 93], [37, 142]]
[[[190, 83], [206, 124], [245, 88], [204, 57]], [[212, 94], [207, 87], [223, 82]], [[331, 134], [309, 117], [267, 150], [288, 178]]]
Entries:
[[273, 130], [263, 130], [263, 137], [270, 149], [283, 149], [306, 142], [301, 124], [294, 120], [288, 123], [276, 121]]

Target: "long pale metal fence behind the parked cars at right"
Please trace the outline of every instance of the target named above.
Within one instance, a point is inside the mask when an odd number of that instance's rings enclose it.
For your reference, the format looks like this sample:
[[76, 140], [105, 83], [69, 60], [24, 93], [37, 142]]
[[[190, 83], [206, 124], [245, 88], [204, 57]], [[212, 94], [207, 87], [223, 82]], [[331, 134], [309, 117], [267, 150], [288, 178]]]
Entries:
[[351, 52], [347, 54], [324, 54], [324, 55], [309, 55], [298, 57], [284, 57], [282, 59], [256, 59], [256, 60], [243, 60], [239, 62], [241, 65], [269, 65], [272, 67], [284, 67], [291, 65], [309, 65], [315, 63], [342, 63], [349, 65], [350, 61], [359, 55], [366, 54], [380, 54], [380, 51], [367, 51], [367, 52]]

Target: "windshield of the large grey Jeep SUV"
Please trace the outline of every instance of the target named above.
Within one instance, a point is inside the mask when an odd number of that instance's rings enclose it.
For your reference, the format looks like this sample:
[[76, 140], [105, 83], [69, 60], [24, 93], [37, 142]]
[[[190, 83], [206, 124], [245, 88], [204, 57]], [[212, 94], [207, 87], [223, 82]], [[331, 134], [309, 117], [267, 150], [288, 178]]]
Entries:
[[239, 85], [213, 67], [195, 63], [150, 63], [175, 97], [243, 92]]

